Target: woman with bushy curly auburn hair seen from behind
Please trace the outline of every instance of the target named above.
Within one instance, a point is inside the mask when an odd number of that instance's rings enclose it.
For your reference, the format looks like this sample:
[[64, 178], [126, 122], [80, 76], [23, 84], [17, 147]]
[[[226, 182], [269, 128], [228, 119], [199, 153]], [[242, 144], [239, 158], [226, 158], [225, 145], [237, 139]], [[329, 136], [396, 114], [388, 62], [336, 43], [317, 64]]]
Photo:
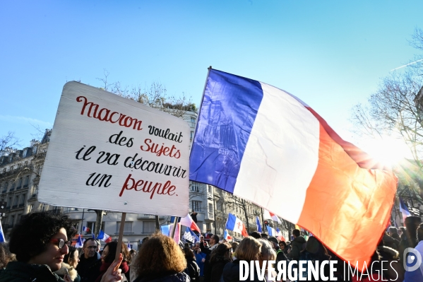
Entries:
[[133, 266], [137, 275], [134, 282], [189, 282], [184, 273], [184, 253], [172, 238], [162, 234], [153, 235], [141, 245]]

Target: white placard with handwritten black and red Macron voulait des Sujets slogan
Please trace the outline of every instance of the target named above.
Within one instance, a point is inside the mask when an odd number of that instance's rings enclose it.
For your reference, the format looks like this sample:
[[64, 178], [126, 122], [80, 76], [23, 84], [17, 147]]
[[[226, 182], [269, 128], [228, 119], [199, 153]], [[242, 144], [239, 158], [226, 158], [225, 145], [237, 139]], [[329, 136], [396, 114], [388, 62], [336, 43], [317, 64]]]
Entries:
[[38, 200], [54, 206], [186, 216], [189, 134], [183, 119], [68, 82]]

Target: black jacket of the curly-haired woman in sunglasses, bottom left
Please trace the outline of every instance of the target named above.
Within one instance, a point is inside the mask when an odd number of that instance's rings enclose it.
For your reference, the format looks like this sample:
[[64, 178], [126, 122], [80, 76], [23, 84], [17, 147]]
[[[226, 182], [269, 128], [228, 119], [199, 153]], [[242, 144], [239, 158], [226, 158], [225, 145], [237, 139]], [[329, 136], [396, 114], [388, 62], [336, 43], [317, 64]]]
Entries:
[[9, 262], [6, 269], [0, 270], [0, 282], [64, 282], [64, 280], [44, 264]]

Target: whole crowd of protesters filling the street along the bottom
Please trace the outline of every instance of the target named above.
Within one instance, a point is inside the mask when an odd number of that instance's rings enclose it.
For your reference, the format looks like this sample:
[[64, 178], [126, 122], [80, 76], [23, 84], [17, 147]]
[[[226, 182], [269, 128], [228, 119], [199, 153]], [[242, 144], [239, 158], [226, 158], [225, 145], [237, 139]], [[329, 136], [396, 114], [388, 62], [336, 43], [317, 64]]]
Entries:
[[[422, 282], [419, 271], [405, 271], [405, 249], [415, 248], [423, 256], [423, 224], [410, 216], [405, 228], [391, 227], [383, 234], [371, 263], [388, 262], [391, 267], [367, 269], [367, 274], [352, 276], [342, 267], [342, 259], [325, 247], [316, 237], [308, 240], [300, 230], [292, 230], [292, 240], [285, 242], [264, 233], [253, 232], [240, 242], [226, 242], [211, 235], [195, 244], [179, 246], [162, 234], [145, 237], [138, 248], [129, 249], [124, 243], [117, 256], [118, 242], [108, 242], [100, 250], [100, 241], [93, 238], [82, 248], [71, 245], [76, 234], [71, 220], [64, 215], [42, 212], [22, 216], [13, 227], [7, 244], [0, 244], [0, 282], [234, 282], [239, 280], [240, 262], [258, 263], [264, 268], [262, 277], [252, 271], [249, 281], [278, 281], [278, 269], [266, 262], [338, 262], [338, 281], [398, 281]], [[119, 259], [115, 259], [119, 257]], [[273, 265], [273, 267], [275, 266]], [[385, 264], [386, 265], [386, 264]], [[298, 269], [297, 269], [298, 270]], [[329, 276], [329, 264], [322, 269]], [[299, 277], [307, 278], [307, 271]], [[304, 281], [304, 279], [299, 279]], [[283, 280], [280, 280], [283, 281]], [[289, 281], [288, 279], [285, 281]], [[311, 281], [320, 281], [311, 280]], [[323, 281], [323, 280], [322, 280]], [[291, 281], [293, 282], [293, 281]]]

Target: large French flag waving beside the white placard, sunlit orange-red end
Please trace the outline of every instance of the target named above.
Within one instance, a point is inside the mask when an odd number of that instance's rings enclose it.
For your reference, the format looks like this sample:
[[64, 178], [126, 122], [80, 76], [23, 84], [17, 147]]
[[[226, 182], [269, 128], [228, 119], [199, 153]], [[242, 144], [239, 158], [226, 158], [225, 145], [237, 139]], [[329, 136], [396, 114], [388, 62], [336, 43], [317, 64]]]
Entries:
[[[302, 100], [210, 69], [190, 180], [253, 201], [318, 237], [360, 269], [389, 220], [393, 172], [340, 138]], [[280, 199], [290, 199], [280, 204]]]

